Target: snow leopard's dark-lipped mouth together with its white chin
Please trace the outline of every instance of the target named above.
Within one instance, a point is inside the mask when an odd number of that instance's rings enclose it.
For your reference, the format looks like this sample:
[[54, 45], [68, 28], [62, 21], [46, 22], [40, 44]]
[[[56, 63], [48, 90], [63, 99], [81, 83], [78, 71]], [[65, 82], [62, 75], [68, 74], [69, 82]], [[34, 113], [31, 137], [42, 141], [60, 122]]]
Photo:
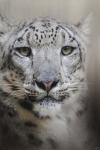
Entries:
[[62, 99], [55, 99], [51, 96], [45, 96], [42, 99], [34, 100], [33, 112], [38, 114], [38, 117], [54, 116], [61, 108]]

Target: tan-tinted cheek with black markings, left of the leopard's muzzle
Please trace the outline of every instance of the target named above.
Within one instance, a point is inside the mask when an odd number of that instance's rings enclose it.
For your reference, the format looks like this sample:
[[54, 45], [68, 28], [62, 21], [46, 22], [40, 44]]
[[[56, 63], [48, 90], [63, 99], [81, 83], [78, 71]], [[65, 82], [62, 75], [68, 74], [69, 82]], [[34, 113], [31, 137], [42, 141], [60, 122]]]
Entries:
[[25, 96], [23, 83], [15, 72], [7, 72], [0, 79], [0, 89], [9, 96], [22, 99]]

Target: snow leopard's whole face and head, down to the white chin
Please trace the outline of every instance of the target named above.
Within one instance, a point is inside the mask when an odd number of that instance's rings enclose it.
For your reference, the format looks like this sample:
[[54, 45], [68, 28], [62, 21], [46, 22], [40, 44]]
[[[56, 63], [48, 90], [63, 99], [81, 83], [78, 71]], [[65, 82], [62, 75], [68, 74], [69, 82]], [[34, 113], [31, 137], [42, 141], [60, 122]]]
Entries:
[[40, 18], [1, 33], [4, 102], [42, 117], [56, 114], [65, 102], [72, 103], [85, 85], [82, 28]]

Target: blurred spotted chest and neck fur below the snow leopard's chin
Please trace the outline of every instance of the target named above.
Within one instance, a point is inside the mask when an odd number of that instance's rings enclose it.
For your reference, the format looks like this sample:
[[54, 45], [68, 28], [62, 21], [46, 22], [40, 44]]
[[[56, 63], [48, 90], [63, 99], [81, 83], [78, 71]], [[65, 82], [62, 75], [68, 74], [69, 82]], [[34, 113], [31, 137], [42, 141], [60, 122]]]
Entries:
[[84, 108], [76, 112], [72, 109], [68, 115], [63, 110], [54, 118], [38, 118], [20, 107], [16, 111], [2, 103], [0, 106], [1, 148], [4, 150], [7, 147], [10, 150], [83, 150], [88, 139]]

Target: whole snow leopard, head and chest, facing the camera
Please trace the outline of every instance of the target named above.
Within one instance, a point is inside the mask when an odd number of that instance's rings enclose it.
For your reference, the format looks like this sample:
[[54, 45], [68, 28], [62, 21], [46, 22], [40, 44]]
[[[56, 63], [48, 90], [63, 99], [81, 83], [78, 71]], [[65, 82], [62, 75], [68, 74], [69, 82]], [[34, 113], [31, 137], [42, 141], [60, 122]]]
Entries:
[[1, 150], [86, 149], [88, 20], [1, 17]]

